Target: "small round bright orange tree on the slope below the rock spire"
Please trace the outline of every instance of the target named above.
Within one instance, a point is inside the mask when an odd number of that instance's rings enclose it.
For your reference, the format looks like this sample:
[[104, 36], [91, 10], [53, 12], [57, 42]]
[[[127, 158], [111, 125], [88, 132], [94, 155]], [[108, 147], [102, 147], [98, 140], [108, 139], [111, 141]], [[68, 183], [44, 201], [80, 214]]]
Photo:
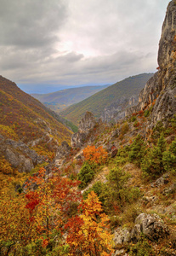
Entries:
[[105, 161], [107, 160], [107, 152], [102, 146], [99, 146], [99, 148], [95, 148], [95, 146], [89, 146], [87, 148], [83, 149], [83, 155], [85, 160], [88, 160], [88, 162], [96, 163], [96, 164], [105, 164]]

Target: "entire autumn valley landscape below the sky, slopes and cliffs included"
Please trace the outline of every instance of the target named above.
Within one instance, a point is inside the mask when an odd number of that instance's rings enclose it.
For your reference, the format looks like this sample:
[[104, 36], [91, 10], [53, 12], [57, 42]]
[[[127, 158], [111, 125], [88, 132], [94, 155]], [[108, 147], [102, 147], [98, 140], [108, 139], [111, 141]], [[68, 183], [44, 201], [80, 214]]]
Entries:
[[172, 0], [155, 74], [69, 107], [0, 76], [0, 255], [176, 255], [175, 20]]

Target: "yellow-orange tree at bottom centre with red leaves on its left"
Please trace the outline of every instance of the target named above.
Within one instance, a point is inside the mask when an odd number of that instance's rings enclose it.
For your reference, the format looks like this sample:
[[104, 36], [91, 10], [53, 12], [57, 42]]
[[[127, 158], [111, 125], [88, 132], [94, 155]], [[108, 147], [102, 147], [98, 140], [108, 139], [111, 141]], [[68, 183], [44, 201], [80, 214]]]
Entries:
[[108, 231], [109, 218], [102, 213], [101, 203], [92, 191], [88, 199], [80, 205], [81, 215], [71, 218], [65, 228], [69, 228], [67, 243], [71, 256], [111, 255], [112, 235]]

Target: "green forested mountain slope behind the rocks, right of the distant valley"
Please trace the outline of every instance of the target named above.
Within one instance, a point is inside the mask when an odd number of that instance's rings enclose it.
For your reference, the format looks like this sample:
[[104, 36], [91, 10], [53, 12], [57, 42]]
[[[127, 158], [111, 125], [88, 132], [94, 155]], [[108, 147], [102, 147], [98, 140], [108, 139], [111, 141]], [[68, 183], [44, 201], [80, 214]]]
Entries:
[[[71, 120], [76, 125], [86, 111], [94, 113], [96, 118], [102, 117], [104, 121], [114, 119], [116, 112], [120, 112], [119, 116], [122, 118], [122, 116], [124, 117], [125, 109], [137, 103], [136, 97], [139, 95], [139, 91], [145, 87], [145, 83], [151, 76], [152, 73], [143, 73], [124, 79], [97, 92], [94, 96], [88, 97], [88, 99], [66, 108], [60, 112], [60, 115]], [[112, 104], [116, 105], [115, 108]], [[107, 117], [106, 114], [108, 108], [114, 109], [110, 117]]]

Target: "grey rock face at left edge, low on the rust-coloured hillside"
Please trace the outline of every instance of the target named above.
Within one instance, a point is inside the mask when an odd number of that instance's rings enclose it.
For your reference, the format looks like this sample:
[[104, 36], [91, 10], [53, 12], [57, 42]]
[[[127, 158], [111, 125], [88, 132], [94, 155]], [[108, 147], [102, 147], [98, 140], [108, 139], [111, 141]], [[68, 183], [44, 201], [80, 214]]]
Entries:
[[0, 136], [0, 153], [19, 172], [30, 172], [34, 166], [44, 161], [42, 156], [28, 148], [25, 143], [5, 139], [2, 135]]

